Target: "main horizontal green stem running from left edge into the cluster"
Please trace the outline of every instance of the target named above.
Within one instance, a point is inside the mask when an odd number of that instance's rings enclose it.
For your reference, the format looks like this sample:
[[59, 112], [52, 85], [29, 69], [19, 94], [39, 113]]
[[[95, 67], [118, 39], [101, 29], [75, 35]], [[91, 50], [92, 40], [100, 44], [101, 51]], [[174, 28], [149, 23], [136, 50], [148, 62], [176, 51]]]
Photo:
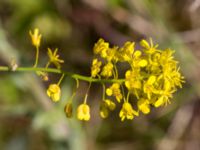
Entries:
[[[0, 66], [0, 71], [11, 71], [9, 67], [7, 66]], [[83, 76], [80, 74], [70, 73], [67, 71], [63, 71], [56, 68], [33, 68], [33, 67], [18, 67], [15, 72], [37, 72], [37, 71], [44, 71], [48, 73], [57, 73], [57, 74], [65, 74], [66, 76], [69, 76], [74, 79], [86, 81], [86, 82], [100, 82], [100, 83], [113, 83], [118, 82], [122, 83], [125, 81], [125, 79], [95, 79], [91, 78], [89, 76]]]

